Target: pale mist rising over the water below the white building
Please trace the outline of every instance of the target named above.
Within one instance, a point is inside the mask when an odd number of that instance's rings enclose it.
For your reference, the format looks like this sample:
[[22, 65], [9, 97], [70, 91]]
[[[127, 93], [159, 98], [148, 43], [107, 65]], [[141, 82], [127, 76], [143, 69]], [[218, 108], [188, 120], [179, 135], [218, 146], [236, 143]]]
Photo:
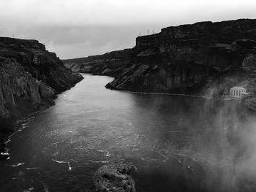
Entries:
[[236, 100], [206, 99], [198, 118], [208, 123], [201, 125], [203, 135], [194, 131], [193, 150], [185, 154], [203, 165], [208, 191], [250, 191], [256, 177], [255, 114]]

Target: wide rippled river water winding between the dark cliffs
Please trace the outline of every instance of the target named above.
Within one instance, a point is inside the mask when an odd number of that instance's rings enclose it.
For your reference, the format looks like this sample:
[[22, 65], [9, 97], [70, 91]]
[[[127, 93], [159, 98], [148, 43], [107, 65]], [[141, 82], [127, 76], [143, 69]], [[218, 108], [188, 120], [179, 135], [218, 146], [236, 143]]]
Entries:
[[56, 105], [18, 123], [0, 191], [85, 191], [125, 159], [137, 191], [255, 191], [255, 120], [238, 101], [110, 91], [84, 74]]

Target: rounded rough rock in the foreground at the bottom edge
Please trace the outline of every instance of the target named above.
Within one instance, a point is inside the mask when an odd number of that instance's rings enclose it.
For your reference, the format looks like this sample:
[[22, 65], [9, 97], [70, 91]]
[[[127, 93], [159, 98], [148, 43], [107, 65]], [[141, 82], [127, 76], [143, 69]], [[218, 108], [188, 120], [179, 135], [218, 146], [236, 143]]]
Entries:
[[129, 175], [131, 169], [124, 161], [100, 167], [94, 174], [94, 191], [135, 192], [135, 182]]

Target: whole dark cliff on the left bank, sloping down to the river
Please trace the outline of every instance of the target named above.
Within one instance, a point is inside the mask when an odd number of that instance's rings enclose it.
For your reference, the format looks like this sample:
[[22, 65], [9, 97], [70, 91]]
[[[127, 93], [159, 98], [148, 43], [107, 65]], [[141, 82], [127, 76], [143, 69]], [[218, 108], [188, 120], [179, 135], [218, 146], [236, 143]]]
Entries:
[[48, 107], [82, 79], [36, 40], [0, 37], [1, 119]]

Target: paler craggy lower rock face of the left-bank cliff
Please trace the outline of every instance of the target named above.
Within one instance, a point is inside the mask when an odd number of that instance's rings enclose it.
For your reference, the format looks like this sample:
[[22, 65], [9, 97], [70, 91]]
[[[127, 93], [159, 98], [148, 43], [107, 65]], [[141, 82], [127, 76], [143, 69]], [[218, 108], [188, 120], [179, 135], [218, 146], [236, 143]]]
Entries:
[[1, 57], [0, 60], [1, 118], [10, 118], [18, 115], [18, 112], [53, 104], [53, 88], [32, 77], [15, 59]]

